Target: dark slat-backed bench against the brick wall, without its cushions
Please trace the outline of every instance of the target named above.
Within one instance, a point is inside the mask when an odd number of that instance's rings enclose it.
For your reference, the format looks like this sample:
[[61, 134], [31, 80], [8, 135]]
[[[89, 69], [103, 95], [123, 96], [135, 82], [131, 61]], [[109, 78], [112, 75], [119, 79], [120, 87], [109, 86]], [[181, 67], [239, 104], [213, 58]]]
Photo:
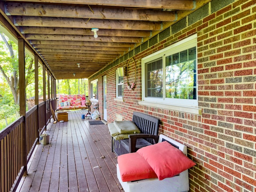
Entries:
[[140, 134], [130, 134], [128, 139], [112, 138], [112, 152], [117, 155], [136, 152], [139, 148], [158, 142], [159, 122], [157, 118], [141, 112], [133, 112], [132, 122], [140, 129]]

